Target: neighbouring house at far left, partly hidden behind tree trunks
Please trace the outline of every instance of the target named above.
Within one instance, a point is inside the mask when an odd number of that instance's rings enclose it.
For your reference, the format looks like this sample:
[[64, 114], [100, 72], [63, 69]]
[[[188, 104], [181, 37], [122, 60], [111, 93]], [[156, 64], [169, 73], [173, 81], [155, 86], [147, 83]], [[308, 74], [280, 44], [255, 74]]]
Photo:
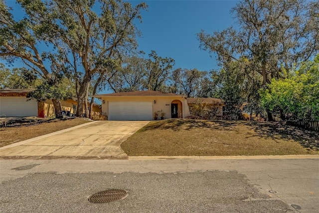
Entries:
[[[5, 115], [6, 117], [54, 117], [55, 110], [51, 100], [37, 102], [35, 99], [26, 99], [27, 94], [33, 90], [34, 89], [0, 89], [0, 115]], [[75, 113], [77, 99], [70, 98], [61, 100], [61, 108], [63, 111]], [[101, 113], [99, 104], [93, 105], [93, 113]]]

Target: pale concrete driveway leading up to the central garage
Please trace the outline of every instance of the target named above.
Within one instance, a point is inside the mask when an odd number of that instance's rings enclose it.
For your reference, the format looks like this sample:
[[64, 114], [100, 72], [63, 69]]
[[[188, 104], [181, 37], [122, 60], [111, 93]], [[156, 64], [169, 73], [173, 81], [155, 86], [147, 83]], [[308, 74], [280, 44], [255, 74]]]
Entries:
[[4, 158], [123, 158], [121, 143], [149, 121], [94, 121], [0, 148]]

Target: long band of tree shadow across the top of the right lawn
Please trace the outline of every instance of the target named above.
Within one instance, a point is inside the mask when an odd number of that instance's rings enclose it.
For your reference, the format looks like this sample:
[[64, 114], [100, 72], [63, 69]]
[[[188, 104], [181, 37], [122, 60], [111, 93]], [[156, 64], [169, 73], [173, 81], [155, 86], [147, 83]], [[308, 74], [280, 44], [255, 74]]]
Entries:
[[[281, 122], [259, 122], [259, 121], [220, 121], [220, 120], [193, 120], [193, 119], [165, 119], [148, 124], [138, 132], [149, 130], [222, 130], [238, 131], [237, 127], [246, 127], [241, 129], [246, 138], [261, 137], [272, 139], [277, 143], [278, 140], [294, 140], [300, 143], [304, 148], [313, 151], [319, 151], [319, 132], [305, 130], [298, 127], [288, 126]], [[252, 130], [253, 133], [249, 130]]]

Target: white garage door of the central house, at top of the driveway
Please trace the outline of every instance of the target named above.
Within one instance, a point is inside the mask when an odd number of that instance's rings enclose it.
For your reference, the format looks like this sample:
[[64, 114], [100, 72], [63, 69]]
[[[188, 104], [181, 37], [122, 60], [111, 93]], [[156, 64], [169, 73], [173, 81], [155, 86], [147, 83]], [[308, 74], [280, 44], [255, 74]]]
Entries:
[[109, 102], [110, 121], [147, 121], [152, 120], [152, 102], [111, 101]]

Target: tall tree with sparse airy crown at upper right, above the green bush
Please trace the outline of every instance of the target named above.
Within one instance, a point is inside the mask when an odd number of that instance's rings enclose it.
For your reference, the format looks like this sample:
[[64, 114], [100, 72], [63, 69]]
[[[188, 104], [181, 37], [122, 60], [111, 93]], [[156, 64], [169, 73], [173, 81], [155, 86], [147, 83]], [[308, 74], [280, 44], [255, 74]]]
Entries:
[[200, 48], [216, 53], [221, 65], [247, 58], [250, 63], [245, 62], [244, 69], [257, 72], [262, 84], [269, 84], [282, 76], [283, 68], [318, 52], [318, 5], [305, 0], [242, 0], [231, 10], [238, 29], [212, 35], [201, 31]]

